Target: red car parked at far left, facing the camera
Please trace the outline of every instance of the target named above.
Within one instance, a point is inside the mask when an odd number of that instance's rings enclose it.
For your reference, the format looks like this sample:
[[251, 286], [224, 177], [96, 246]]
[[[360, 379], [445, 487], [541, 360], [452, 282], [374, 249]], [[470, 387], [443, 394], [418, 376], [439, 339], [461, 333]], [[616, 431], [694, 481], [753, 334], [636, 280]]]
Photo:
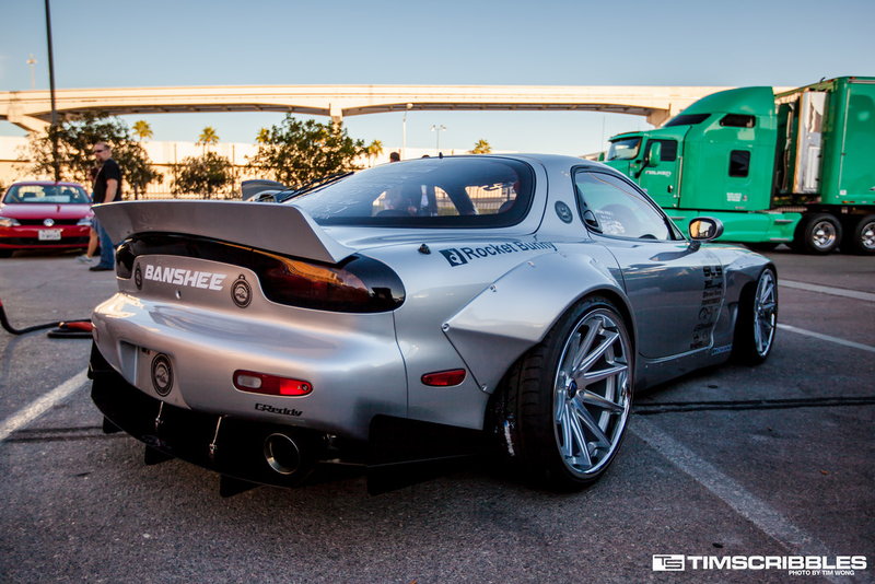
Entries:
[[89, 244], [91, 197], [75, 183], [14, 183], [0, 201], [0, 257], [18, 249], [74, 249]]

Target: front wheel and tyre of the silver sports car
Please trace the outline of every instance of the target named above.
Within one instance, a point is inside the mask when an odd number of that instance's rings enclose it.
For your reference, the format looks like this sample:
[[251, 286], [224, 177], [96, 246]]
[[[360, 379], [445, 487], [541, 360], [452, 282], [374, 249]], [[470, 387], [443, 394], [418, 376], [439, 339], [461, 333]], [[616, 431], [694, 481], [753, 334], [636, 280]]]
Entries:
[[759, 365], [769, 358], [778, 329], [778, 279], [766, 268], [757, 285], [747, 287], [738, 302], [733, 357], [747, 365]]

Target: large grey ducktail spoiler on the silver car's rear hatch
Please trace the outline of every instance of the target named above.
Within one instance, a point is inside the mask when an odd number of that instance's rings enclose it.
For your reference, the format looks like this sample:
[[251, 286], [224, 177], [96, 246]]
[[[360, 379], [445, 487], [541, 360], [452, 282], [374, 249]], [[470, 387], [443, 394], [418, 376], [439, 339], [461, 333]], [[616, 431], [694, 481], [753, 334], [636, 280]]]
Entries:
[[339, 264], [354, 253], [293, 205], [243, 201], [124, 201], [95, 205], [116, 244], [135, 234], [179, 233]]

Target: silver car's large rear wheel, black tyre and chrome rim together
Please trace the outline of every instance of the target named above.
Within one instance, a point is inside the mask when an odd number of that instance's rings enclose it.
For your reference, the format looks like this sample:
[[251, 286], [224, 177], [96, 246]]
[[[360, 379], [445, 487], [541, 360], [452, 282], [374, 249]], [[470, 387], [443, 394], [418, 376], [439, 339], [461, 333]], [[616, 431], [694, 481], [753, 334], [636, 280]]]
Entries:
[[632, 346], [622, 317], [609, 301], [587, 299], [514, 364], [495, 431], [530, 478], [578, 490], [614, 460], [632, 387]]

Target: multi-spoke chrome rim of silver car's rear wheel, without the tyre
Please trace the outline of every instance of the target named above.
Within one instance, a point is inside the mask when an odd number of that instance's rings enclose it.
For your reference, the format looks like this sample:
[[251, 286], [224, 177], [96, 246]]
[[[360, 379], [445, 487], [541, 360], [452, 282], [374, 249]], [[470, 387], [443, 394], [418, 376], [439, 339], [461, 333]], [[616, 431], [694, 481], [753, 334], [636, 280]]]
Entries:
[[568, 470], [598, 474], [622, 439], [631, 408], [630, 343], [621, 319], [584, 314], [564, 343], [553, 382], [553, 433]]

